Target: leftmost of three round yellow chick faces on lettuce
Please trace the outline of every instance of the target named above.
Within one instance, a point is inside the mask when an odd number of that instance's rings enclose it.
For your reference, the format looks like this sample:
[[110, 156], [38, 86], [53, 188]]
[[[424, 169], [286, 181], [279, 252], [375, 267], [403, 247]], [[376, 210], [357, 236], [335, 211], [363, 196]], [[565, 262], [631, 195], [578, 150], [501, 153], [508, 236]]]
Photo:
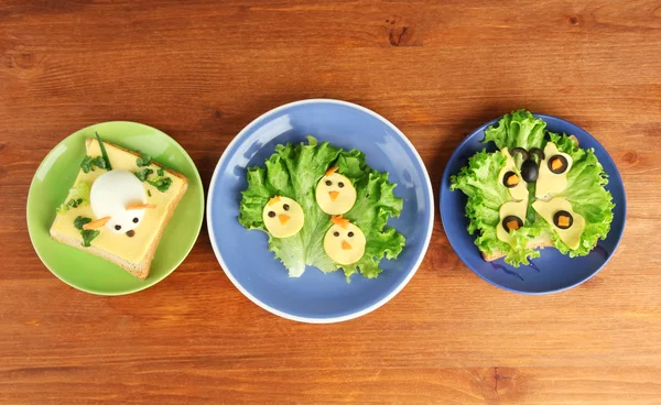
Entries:
[[262, 219], [273, 238], [292, 237], [299, 233], [305, 222], [303, 208], [299, 202], [281, 196], [275, 196], [267, 202]]

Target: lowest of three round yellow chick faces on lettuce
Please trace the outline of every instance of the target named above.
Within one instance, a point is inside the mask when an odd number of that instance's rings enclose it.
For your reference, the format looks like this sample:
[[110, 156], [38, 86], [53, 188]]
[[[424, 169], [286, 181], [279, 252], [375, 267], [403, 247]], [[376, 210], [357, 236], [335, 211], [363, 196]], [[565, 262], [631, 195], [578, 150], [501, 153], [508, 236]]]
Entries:
[[324, 237], [324, 250], [338, 264], [353, 264], [365, 254], [365, 234], [342, 216], [330, 219], [333, 226]]

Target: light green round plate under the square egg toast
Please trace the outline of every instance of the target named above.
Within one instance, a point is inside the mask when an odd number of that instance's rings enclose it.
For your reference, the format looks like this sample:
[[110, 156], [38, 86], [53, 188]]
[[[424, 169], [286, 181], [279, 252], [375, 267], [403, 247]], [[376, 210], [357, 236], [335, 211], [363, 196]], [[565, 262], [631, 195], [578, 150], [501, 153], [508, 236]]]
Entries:
[[[165, 228], [144, 281], [116, 264], [58, 243], [48, 233], [55, 219], [55, 208], [66, 198], [85, 157], [85, 139], [94, 138], [95, 131], [104, 141], [150, 154], [154, 161], [188, 179], [188, 189]], [[28, 195], [28, 229], [39, 258], [66, 284], [99, 295], [130, 294], [165, 278], [186, 259], [195, 244], [203, 217], [204, 189], [191, 156], [165, 133], [136, 122], [98, 123], [59, 142], [36, 169]]]

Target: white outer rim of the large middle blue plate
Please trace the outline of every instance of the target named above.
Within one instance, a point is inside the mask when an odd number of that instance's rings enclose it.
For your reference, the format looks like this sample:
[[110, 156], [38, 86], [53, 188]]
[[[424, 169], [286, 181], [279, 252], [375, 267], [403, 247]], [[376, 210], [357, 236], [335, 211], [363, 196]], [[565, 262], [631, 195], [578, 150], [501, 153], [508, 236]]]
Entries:
[[[220, 166], [225, 163], [225, 161], [227, 158], [229, 158], [229, 154], [228, 151], [230, 151], [232, 149], [232, 146], [235, 145], [235, 143], [239, 142], [239, 139], [247, 132], [249, 132], [250, 130], [253, 129], [253, 127], [256, 127], [260, 121], [262, 121], [263, 119], [268, 118], [271, 114], [275, 114], [284, 109], [291, 108], [291, 107], [295, 107], [295, 106], [303, 106], [303, 105], [312, 105], [312, 103], [330, 103], [330, 105], [339, 105], [339, 106], [345, 106], [345, 107], [349, 107], [353, 109], [356, 109], [360, 112], [365, 112], [376, 119], [378, 119], [379, 121], [381, 121], [383, 124], [386, 124], [387, 127], [389, 127], [397, 135], [399, 135], [404, 143], [407, 144], [407, 146], [410, 147], [410, 150], [413, 152], [413, 156], [415, 158], [415, 161], [420, 164], [420, 166], [422, 167], [422, 172], [424, 174], [424, 179], [426, 180], [426, 186], [427, 186], [427, 204], [430, 205], [430, 218], [427, 220], [427, 226], [426, 226], [426, 234], [424, 238], [424, 242], [423, 242], [423, 249], [422, 252], [419, 254], [418, 259], [415, 260], [413, 266], [411, 267], [411, 270], [409, 271], [409, 274], [407, 274], [407, 276], [404, 277], [404, 280], [402, 280], [400, 282], [399, 285], [397, 285], [397, 287], [390, 292], [388, 295], [386, 295], [384, 297], [382, 297], [381, 299], [379, 299], [377, 303], [372, 304], [371, 306], [364, 308], [361, 310], [351, 313], [351, 314], [347, 314], [347, 315], [343, 315], [343, 316], [337, 316], [337, 317], [328, 317], [328, 318], [315, 318], [315, 317], [302, 317], [302, 316], [297, 316], [297, 315], [292, 315], [289, 313], [285, 313], [283, 310], [277, 309], [271, 307], [270, 305], [267, 305], [264, 303], [262, 303], [260, 299], [258, 299], [254, 295], [252, 295], [250, 292], [248, 292], [236, 278], [235, 276], [231, 274], [231, 272], [229, 272], [229, 270], [227, 270], [227, 264], [225, 263], [225, 261], [223, 260], [223, 255], [220, 254], [217, 245], [217, 241], [216, 241], [216, 234], [214, 233], [214, 227], [212, 226], [212, 210], [213, 210], [213, 205], [212, 205], [212, 196], [214, 196], [214, 191], [215, 191], [215, 187], [216, 187], [216, 179], [217, 176], [219, 175], [219, 168]], [[239, 133], [231, 140], [231, 142], [225, 147], [225, 151], [223, 151], [223, 155], [220, 156], [220, 158], [218, 160], [218, 163], [216, 164], [216, 167], [214, 168], [214, 174], [212, 176], [210, 183], [209, 183], [209, 189], [207, 193], [207, 201], [206, 201], [206, 220], [207, 220], [207, 231], [209, 233], [209, 239], [212, 242], [212, 248], [214, 249], [214, 254], [216, 255], [216, 259], [218, 261], [218, 263], [220, 264], [220, 267], [223, 269], [223, 272], [227, 275], [227, 277], [229, 278], [229, 281], [234, 284], [234, 286], [241, 292], [241, 294], [243, 294], [243, 296], [246, 296], [248, 299], [250, 299], [253, 304], [258, 305], [259, 307], [261, 307], [262, 309], [277, 315], [279, 317], [285, 318], [285, 319], [290, 319], [290, 320], [295, 320], [299, 322], [304, 322], [304, 324], [335, 324], [335, 322], [342, 322], [345, 320], [350, 320], [350, 319], [355, 319], [358, 317], [361, 317], [364, 315], [367, 315], [378, 308], [380, 308], [381, 306], [383, 306], [386, 303], [388, 303], [390, 299], [392, 299], [397, 294], [399, 294], [405, 286], [407, 284], [409, 284], [409, 282], [411, 281], [411, 278], [413, 278], [413, 275], [415, 275], [415, 273], [418, 272], [418, 269], [420, 267], [420, 265], [422, 264], [422, 261], [424, 260], [424, 258], [426, 256], [426, 252], [429, 250], [430, 247], [430, 242], [431, 242], [431, 238], [432, 238], [432, 231], [434, 228], [434, 217], [435, 217], [435, 205], [434, 205], [434, 190], [432, 188], [432, 182], [430, 179], [430, 174], [426, 169], [426, 166], [424, 164], [424, 162], [422, 161], [422, 157], [420, 157], [420, 154], [418, 153], [418, 150], [415, 149], [415, 146], [413, 145], [413, 143], [411, 143], [411, 141], [404, 135], [404, 133], [402, 131], [400, 131], [399, 128], [397, 128], [392, 122], [390, 122], [388, 119], [383, 118], [382, 116], [380, 116], [379, 113], [359, 106], [357, 103], [354, 102], [349, 102], [349, 101], [344, 101], [344, 100], [337, 100], [337, 99], [329, 99], [329, 98], [311, 98], [311, 99], [303, 99], [303, 100], [297, 100], [297, 101], [292, 101], [292, 102], [288, 102], [284, 105], [281, 105], [279, 107], [275, 107], [271, 110], [268, 110], [267, 112], [260, 114], [259, 117], [257, 117], [256, 119], [253, 119], [252, 121], [250, 121], [250, 123], [248, 123], [246, 127], [243, 127], [243, 129], [241, 131], [239, 131]]]

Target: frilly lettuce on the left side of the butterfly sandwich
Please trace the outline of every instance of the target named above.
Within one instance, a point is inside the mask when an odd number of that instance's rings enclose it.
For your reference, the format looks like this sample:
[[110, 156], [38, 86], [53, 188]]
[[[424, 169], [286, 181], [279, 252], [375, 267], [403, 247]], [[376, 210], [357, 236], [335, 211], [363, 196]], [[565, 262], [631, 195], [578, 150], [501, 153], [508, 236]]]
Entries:
[[502, 153], [487, 153], [483, 150], [468, 160], [468, 166], [462, 167], [457, 175], [449, 177], [449, 189], [460, 189], [468, 197], [468, 232], [477, 233], [477, 248], [486, 254], [505, 253], [505, 262], [518, 267], [521, 263], [529, 264], [529, 258], [539, 258], [540, 253], [528, 249], [527, 245], [546, 228], [525, 219], [523, 227], [512, 231], [514, 243], [508, 244], [498, 239], [496, 228], [500, 226], [500, 206], [512, 200], [508, 189], [502, 187], [498, 179], [505, 164], [506, 157]]

